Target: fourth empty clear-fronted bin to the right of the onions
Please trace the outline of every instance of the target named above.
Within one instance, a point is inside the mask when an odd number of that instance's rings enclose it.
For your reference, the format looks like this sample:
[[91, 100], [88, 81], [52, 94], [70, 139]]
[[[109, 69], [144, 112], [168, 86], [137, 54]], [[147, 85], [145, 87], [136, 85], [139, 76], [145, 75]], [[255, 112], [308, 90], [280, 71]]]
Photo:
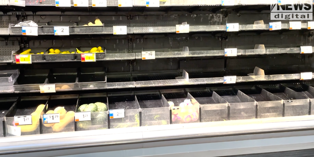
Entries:
[[279, 84], [261, 87], [284, 100], [285, 117], [309, 115], [310, 99], [303, 93]]

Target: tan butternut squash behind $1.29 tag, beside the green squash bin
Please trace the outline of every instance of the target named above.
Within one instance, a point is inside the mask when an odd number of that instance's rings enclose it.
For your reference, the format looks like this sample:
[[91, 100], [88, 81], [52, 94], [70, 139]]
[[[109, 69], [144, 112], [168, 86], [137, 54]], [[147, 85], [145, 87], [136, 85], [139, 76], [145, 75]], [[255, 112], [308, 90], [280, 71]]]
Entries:
[[50, 123], [44, 124], [45, 127], [52, 127], [52, 131], [60, 132], [62, 131], [68, 124], [74, 122], [74, 112], [66, 111], [64, 107], [56, 107], [54, 110], [49, 110], [46, 114], [59, 113], [60, 122], [59, 123]]

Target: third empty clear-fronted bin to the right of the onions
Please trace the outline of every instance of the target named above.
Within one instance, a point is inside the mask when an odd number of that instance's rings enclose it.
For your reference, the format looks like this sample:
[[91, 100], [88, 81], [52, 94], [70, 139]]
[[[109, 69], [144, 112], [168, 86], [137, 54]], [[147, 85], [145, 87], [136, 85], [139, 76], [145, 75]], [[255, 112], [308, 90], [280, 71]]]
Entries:
[[284, 101], [270, 92], [258, 87], [239, 88], [240, 91], [257, 102], [257, 118], [282, 117]]

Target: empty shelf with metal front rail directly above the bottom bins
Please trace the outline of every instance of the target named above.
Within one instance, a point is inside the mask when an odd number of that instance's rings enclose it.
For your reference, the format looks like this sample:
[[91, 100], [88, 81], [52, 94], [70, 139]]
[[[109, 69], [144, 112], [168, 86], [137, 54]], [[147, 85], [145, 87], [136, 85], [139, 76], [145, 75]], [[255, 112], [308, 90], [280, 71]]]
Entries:
[[[28, 74], [28, 75], [26, 75]], [[97, 73], [90, 73], [89, 75], [94, 75]], [[110, 74], [110, 73], [108, 73]], [[100, 89], [122, 89], [122, 88], [142, 88], [142, 87], [162, 87], [162, 86], [173, 86], [173, 85], [197, 85], [197, 84], [218, 84], [224, 83], [223, 73], [213, 73], [209, 76], [212, 78], [202, 78], [205, 75], [202, 73], [201, 76], [198, 73], [190, 73], [194, 77], [189, 77], [189, 74], [185, 71], [183, 73], [178, 73], [176, 71], [172, 72], [152, 72], [152, 73], [131, 73], [126, 74], [114, 74], [110, 75], [108, 80], [105, 81], [90, 80], [89, 82], [79, 82], [79, 75], [72, 76], [73, 82], [50, 82], [52, 78], [51, 72], [49, 70], [41, 71], [21, 71], [20, 77], [17, 79], [16, 83], [12, 86], [6, 88], [14, 88], [15, 93], [33, 93], [40, 92], [40, 85], [55, 85], [56, 92], [62, 91], [80, 91], [80, 90], [100, 90]], [[27, 76], [27, 77], [26, 77]], [[232, 75], [228, 75], [232, 76]], [[71, 77], [68, 76], [67, 77]], [[55, 78], [55, 77], [53, 77]], [[75, 79], [76, 78], [76, 79]], [[92, 77], [93, 78], [93, 77]], [[312, 77], [314, 78], [314, 76]], [[301, 74], [276, 74], [276, 75], [263, 75], [263, 76], [237, 76], [236, 83], [239, 82], [252, 82], [252, 81], [278, 81], [278, 80], [299, 80], [301, 79]], [[57, 79], [56, 79], [57, 80]], [[6, 93], [3, 91], [1, 93]], [[13, 92], [10, 91], [10, 92]]]

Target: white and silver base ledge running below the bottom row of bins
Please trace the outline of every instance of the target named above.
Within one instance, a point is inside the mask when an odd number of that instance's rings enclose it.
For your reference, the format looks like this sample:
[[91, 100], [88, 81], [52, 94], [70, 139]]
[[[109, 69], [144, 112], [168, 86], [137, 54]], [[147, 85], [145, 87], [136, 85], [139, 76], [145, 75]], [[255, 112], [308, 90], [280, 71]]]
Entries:
[[[196, 156], [204, 156], [211, 151], [212, 155], [226, 156], [313, 149], [313, 122], [314, 116], [297, 116], [4, 137], [0, 155], [127, 157], [125, 154], [131, 153], [128, 157], [136, 157], [193, 151]], [[182, 149], [175, 149], [179, 146]], [[162, 151], [165, 149], [168, 151]]]

